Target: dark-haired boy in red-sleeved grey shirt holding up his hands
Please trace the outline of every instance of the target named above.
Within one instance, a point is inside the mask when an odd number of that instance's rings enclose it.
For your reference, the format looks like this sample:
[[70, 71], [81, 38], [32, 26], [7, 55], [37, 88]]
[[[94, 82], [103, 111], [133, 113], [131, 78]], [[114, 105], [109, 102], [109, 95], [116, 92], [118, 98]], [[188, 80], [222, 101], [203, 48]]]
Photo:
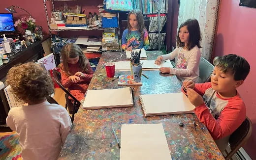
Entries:
[[236, 88], [243, 84], [250, 72], [245, 58], [228, 54], [214, 59], [211, 82], [195, 84], [184, 80], [194, 112], [204, 123], [221, 151], [224, 151], [232, 134], [245, 120], [246, 108]]

